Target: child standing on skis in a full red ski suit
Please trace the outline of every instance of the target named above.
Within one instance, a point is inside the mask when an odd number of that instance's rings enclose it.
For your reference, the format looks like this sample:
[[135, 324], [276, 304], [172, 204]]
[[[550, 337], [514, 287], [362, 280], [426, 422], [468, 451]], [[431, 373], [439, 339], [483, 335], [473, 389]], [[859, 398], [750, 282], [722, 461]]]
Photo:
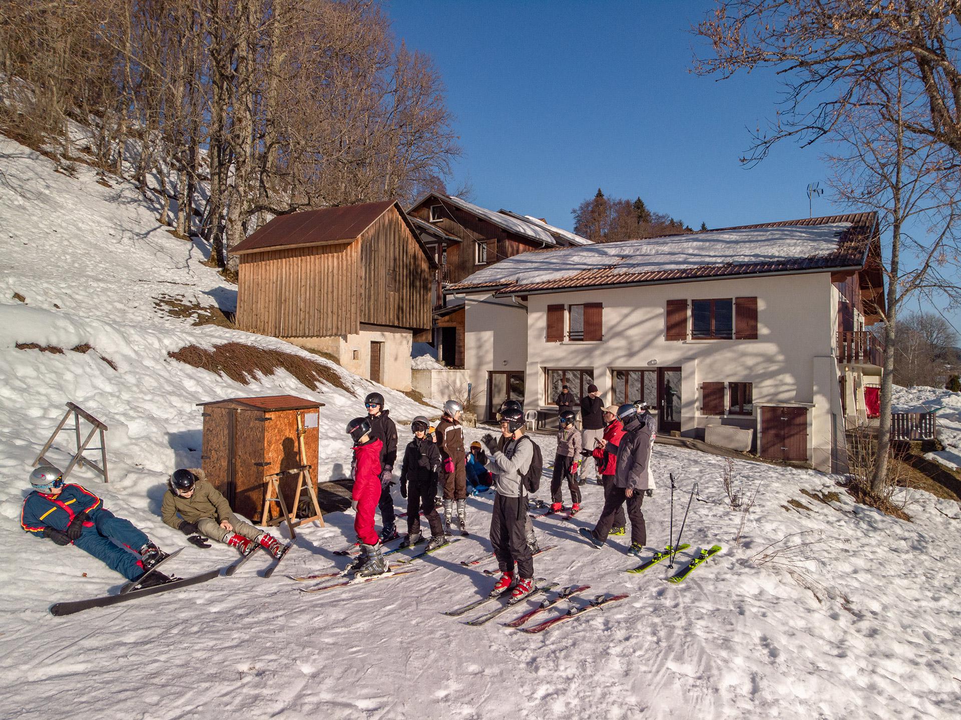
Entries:
[[355, 417], [347, 423], [347, 434], [354, 440], [354, 492], [351, 494], [357, 515], [354, 532], [360, 540], [360, 556], [351, 567], [357, 575], [368, 577], [387, 571], [381, 538], [374, 530], [374, 509], [381, 499], [381, 452], [383, 443], [373, 436], [370, 421]]

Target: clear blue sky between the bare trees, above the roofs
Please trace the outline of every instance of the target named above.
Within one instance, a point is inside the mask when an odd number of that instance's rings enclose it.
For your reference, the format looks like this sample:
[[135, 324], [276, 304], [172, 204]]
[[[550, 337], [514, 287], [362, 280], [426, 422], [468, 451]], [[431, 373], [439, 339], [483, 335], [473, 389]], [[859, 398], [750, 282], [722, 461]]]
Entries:
[[[478, 204], [573, 227], [598, 187], [640, 196], [693, 228], [806, 217], [827, 168], [784, 144], [739, 162], [749, 128], [775, 114], [770, 73], [718, 82], [690, 72], [689, 29], [706, 2], [417, 2], [386, 5], [410, 48], [431, 55], [464, 148], [454, 189]], [[815, 214], [836, 211], [826, 194]]]

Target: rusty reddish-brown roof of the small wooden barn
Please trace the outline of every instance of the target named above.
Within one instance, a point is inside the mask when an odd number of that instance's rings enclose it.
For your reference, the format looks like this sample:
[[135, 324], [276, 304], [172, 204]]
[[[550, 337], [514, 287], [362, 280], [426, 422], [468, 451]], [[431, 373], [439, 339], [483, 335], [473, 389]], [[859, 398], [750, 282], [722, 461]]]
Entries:
[[[393, 204], [393, 200], [383, 200], [379, 203], [278, 215], [234, 245], [231, 252], [251, 253], [279, 247], [350, 241], [369, 228]], [[398, 210], [403, 214], [400, 206]], [[418, 237], [416, 233], [414, 236]]]

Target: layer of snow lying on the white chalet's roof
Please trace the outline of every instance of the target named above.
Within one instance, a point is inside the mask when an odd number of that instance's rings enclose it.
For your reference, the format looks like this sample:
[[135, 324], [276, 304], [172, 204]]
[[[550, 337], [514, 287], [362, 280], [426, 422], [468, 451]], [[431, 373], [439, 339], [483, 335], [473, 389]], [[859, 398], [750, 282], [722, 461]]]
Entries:
[[584, 270], [617, 273], [684, 270], [702, 265], [816, 258], [838, 248], [850, 223], [715, 230], [642, 240], [601, 242], [549, 253], [521, 253], [469, 275], [458, 285], [530, 285], [563, 280]]

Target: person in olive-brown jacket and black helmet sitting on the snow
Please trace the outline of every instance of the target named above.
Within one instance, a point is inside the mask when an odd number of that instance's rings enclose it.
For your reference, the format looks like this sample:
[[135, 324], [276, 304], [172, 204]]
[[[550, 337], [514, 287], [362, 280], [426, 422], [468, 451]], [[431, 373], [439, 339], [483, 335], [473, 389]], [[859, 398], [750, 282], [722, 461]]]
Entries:
[[234, 515], [216, 487], [185, 468], [170, 476], [170, 487], [160, 504], [160, 517], [174, 530], [188, 536], [212, 537], [236, 548], [240, 555], [247, 555], [258, 544], [275, 558], [283, 554], [280, 540]]

